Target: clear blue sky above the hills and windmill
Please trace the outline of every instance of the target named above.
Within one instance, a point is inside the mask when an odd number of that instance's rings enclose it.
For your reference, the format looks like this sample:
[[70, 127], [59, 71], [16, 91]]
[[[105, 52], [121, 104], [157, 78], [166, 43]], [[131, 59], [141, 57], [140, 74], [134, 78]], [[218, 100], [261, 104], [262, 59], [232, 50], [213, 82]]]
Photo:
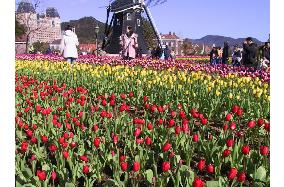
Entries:
[[[62, 21], [93, 16], [105, 22], [108, 2], [42, 0], [39, 11], [55, 7]], [[182, 38], [252, 36], [266, 41], [270, 33], [270, 0], [167, 0], [162, 5], [150, 7], [150, 11], [160, 33], [171, 31]]]

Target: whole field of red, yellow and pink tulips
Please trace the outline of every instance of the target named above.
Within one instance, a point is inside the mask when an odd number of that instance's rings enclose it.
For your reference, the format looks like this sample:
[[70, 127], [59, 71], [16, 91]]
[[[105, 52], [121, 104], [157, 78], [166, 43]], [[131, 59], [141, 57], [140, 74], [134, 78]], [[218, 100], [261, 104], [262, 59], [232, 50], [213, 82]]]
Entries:
[[207, 61], [16, 56], [16, 186], [269, 186], [270, 72]]

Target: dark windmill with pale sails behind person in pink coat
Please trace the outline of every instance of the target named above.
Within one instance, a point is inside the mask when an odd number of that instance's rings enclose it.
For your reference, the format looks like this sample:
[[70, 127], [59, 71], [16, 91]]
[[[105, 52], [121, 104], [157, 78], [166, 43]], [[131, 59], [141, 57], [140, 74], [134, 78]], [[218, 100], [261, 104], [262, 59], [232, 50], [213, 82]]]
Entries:
[[[154, 6], [165, 2], [166, 0], [155, 1]], [[119, 37], [126, 33], [127, 27], [132, 26], [134, 32], [138, 34], [138, 45], [142, 53], [147, 52], [146, 40], [142, 28], [142, 13], [145, 12], [147, 18], [154, 30], [156, 39], [161, 46], [161, 36], [154, 23], [153, 17], [149, 10], [152, 0], [114, 0], [109, 2], [107, 7], [107, 19], [105, 24], [105, 38], [102, 48], [110, 54], [120, 52]], [[110, 14], [113, 13], [109, 22]]]

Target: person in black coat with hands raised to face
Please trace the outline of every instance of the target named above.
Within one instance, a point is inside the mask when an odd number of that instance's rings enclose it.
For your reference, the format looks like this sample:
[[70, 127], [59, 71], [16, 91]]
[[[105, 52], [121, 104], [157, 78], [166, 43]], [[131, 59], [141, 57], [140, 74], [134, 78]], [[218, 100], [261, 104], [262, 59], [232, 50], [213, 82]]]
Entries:
[[257, 44], [248, 37], [243, 43], [243, 65], [255, 66], [257, 62]]

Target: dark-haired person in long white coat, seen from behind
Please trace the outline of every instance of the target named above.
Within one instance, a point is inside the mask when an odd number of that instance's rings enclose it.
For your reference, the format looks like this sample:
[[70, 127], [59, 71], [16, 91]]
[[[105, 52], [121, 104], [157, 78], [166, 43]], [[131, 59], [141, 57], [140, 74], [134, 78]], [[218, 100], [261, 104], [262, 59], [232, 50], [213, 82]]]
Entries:
[[77, 35], [72, 31], [72, 27], [68, 25], [65, 28], [61, 39], [60, 51], [67, 62], [73, 64], [78, 58], [77, 46], [79, 45]]

